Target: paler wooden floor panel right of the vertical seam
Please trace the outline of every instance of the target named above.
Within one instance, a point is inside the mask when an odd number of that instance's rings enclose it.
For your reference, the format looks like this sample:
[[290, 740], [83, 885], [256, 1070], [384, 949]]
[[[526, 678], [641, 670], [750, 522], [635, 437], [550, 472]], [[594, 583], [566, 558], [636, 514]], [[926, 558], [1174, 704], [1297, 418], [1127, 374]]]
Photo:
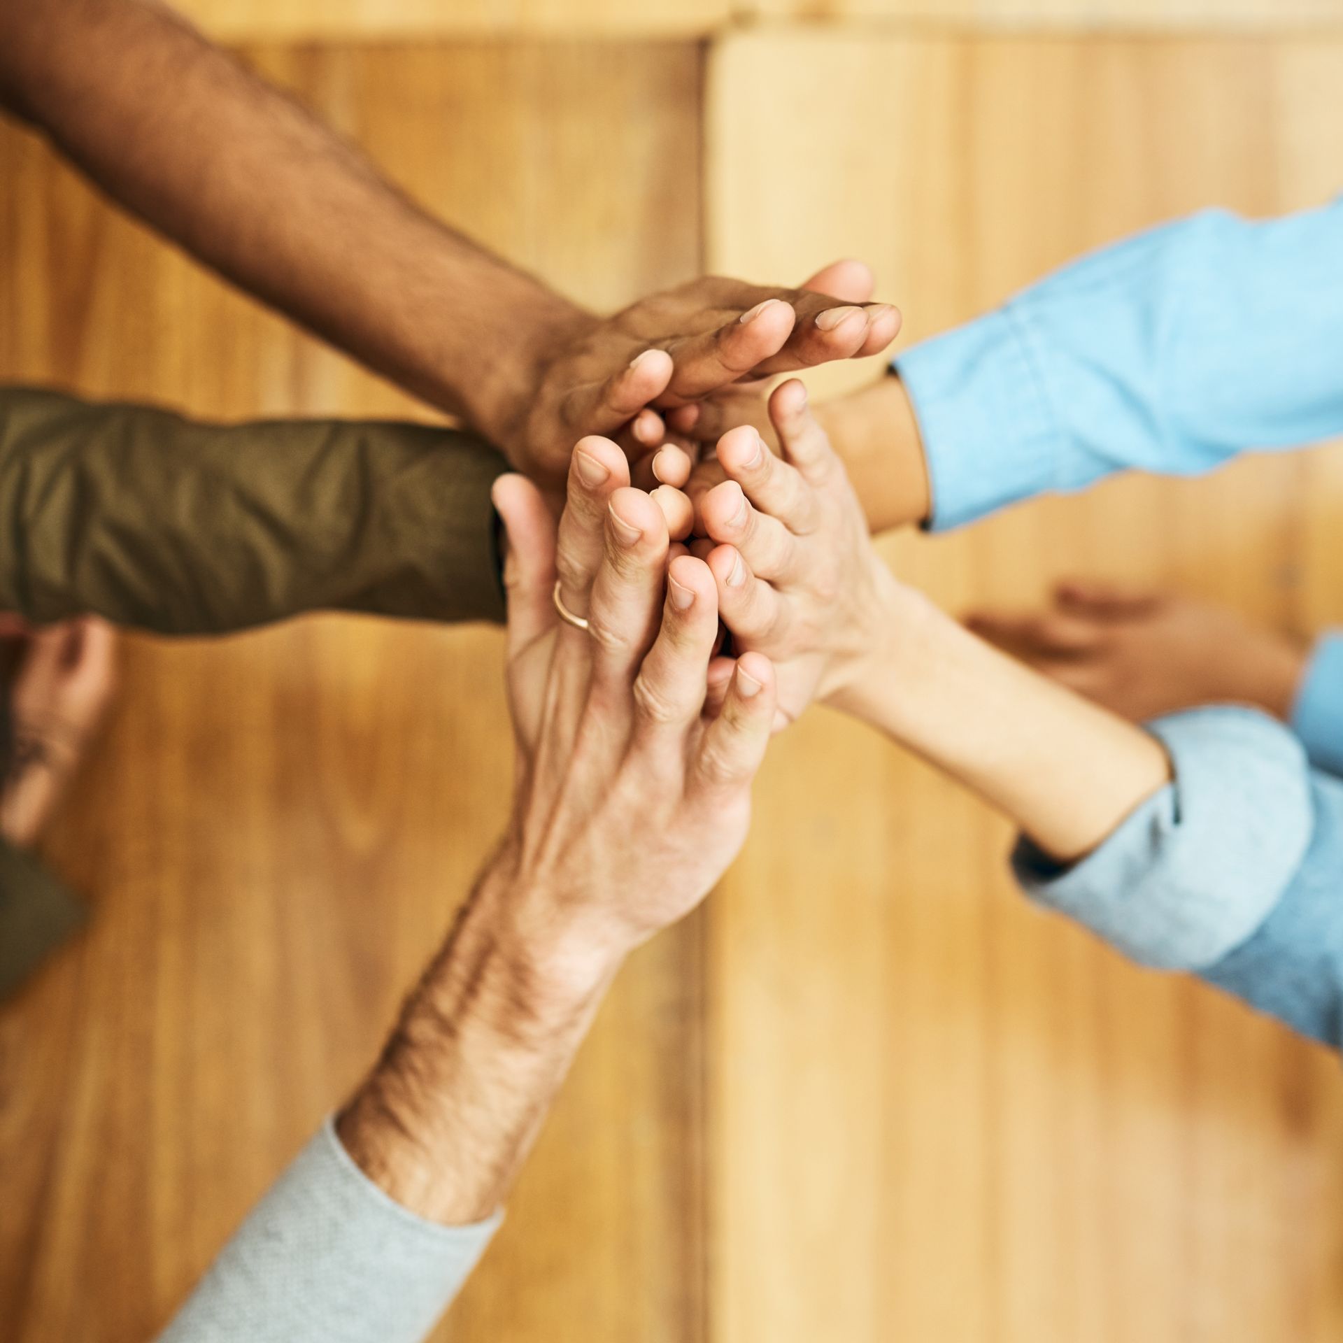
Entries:
[[[1323, 199], [1340, 74], [1323, 42], [741, 36], [709, 265], [866, 257], [929, 334], [1156, 220]], [[1343, 611], [1340, 509], [1320, 450], [888, 555], [954, 608], [1105, 573], [1308, 630]], [[1009, 842], [851, 724], [778, 743], [712, 909], [714, 1339], [1336, 1338], [1338, 1060], [1030, 911]]]

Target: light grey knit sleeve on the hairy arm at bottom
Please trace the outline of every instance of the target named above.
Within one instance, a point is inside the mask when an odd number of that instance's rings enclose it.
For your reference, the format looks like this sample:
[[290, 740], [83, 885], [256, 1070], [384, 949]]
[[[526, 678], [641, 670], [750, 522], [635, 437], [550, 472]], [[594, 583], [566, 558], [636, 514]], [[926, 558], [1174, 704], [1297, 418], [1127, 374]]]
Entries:
[[501, 1221], [416, 1217], [364, 1175], [328, 1120], [160, 1343], [419, 1343]]

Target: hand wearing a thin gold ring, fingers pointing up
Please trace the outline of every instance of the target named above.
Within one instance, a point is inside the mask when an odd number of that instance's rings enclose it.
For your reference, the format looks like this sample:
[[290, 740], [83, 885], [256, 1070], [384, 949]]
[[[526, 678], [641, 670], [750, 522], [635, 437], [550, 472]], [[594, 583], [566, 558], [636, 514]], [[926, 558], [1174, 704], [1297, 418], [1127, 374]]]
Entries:
[[[497, 870], [521, 925], [537, 929], [524, 943], [551, 945], [561, 928], [561, 959], [590, 968], [688, 913], [721, 877], [745, 839], [775, 713], [774, 669], [747, 654], [721, 713], [705, 714], [719, 633], [713, 575], [684, 547], [673, 551], [663, 501], [627, 482], [615, 443], [583, 439], [557, 544], [533, 482], [496, 485], [509, 535], [518, 753]], [[680, 504], [688, 526], [689, 504]], [[587, 630], [557, 618], [556, 577]]]

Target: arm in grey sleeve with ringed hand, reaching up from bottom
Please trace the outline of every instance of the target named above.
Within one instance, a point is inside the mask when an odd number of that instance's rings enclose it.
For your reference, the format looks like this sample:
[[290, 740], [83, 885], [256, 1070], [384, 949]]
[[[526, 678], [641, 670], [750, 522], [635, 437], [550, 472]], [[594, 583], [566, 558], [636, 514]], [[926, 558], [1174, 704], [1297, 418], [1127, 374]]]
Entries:
[[[224, 1249], [172, 1343], [422, 1336], [482, 1252], [624, 956], [694, 908], [745, 839], [772, 666], [744, 657], [705, 716], [713, 577], [688, 555], [667, 563], [662, 501], [627, 482], [615, 443], [583, 441], [557, 551], [535, 486], [496, 486], [512, 543], [509, 830], [381, 1058]], [[592, 633], [560, 624], [557, 577]]]

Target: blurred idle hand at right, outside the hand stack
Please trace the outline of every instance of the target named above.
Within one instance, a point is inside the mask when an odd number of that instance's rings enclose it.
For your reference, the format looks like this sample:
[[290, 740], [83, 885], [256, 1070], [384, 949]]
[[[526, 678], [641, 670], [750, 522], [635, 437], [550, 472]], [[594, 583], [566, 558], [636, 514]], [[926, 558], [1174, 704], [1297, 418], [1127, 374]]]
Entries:
[[1135, 723], [1218, 702], [1285, 721], [1307, 659], [1293, 639], [1225, 607], [1115, 583], [1064, 583], [1042, 612], [979, 612], [966, 623]]

